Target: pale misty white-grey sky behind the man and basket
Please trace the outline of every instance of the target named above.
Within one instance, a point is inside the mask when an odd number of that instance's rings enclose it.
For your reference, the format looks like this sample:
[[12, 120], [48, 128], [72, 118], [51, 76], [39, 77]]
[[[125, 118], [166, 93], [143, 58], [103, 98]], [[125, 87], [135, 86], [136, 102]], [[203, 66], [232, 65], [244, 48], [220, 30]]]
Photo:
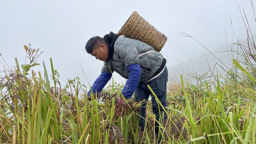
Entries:
[[[256, 2], [254, 0], [254, 5]], [[86, 53], [84, 46], [92, 36], [118, 32], [136, 10], [145, 20], [164, 33], [168, 40], [161, 53], [169, 69], [177, 68], [178, 61], [195, 60], [194, 71], [204, 72], [209, 58], [214, 58], [192, 38], [181, 38], [188, 33], [211, 51], [222, 51], [232, 37], [246, 38], [246, 29], [238, 8], [244, 8], [248, 21], [255, 31], [255, 20], [249, 0], [1, 0], [0, 1], [0, 53], [9, 66], [17, 57], [25, 62], [24, 44], [43, 51], [38, 59], [40, 66], [33, 69], [43, 72], [44, 60], [50, 73], [50, 58], [60, 73], [60, 82], [80, 77], [88, 86], [81, 67], [90, 84], [101, 72], [103, 62]], [[232, 26], [233, 25], [232, 34]], [[225, 35], [227, 34], [227, 39]], [[222, 58], [228, 60], [227, 56]], [[0, 70], [3, 66], [0, 65]], [[174, 70], [169, 70], [173, 76]], [[3, 75], [3, 73], [0, 73]], [[125, 80], [114, 74], [117, 82]]]

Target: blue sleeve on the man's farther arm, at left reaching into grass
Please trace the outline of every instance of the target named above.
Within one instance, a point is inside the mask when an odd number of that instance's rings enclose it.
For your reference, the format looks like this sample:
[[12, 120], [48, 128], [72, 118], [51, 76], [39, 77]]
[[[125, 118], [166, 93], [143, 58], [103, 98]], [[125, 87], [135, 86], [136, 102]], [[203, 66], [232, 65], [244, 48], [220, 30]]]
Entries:
[[[92, 92], [101, 92], [107, 82], [110, 80], [112, 74], [108, 72], [101, 72], [100, 76], [92, 84]], [[91, 90], [87, 93], [87, 96], [90, 96]]]

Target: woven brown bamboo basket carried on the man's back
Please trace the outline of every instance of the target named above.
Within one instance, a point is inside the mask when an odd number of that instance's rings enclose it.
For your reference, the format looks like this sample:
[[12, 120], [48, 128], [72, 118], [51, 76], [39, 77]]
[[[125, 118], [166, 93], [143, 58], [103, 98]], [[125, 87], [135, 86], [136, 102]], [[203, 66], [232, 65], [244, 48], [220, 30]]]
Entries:
[[136, 11], [132, 13], [117, 34], [145, 42], [158, 52], [167, 41], [167, 37], [164, 34], [144, 20]]

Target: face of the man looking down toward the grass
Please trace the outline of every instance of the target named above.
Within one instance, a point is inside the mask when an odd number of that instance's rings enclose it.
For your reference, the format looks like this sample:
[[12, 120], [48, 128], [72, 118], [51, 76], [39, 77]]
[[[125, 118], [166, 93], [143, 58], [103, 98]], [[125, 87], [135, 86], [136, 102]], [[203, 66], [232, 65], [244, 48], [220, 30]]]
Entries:
[[97, 60], [106, 62], [108, 60], [108, 46], [106, 44], [100, 44], [100, 47], [95, 48], [91, 55], [95, 56]]

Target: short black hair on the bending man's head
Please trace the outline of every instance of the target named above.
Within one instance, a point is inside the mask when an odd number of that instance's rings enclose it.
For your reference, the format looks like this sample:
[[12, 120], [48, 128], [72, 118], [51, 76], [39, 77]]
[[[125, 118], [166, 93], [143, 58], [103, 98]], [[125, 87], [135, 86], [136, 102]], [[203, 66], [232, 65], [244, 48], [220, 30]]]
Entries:
[[85, 50], [88, 54], [91, 54], [94, 50], [94, 46], [98, 46], [100, 44], [106, 44], [106, 40], [104, 38], [101, 38], [100, 36], [94, 36], [88, 40], [88, 42], [85, 45]]

